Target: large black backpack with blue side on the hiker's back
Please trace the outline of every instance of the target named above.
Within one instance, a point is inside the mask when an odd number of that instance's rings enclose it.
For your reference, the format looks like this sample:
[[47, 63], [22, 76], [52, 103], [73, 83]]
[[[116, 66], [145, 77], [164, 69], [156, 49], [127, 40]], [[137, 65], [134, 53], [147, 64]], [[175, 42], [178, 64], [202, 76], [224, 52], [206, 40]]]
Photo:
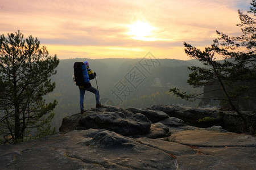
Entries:
[[76, 86], [84, 86], [86, 83], [89, 83], [89, 75], [84, 62], [74, 63], [74, 76]]

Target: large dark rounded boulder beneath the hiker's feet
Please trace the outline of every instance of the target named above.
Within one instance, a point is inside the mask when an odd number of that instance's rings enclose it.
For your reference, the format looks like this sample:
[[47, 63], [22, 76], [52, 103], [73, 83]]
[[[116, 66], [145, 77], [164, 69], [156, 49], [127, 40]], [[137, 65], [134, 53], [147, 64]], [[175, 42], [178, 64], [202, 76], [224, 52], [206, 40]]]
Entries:
[[61, 132], [85, 129], [107, 129], [125, 136], [147, 134], [151, 122], [143, 114], [135, 114], [118, 107], [89, 109], [63, 119]]

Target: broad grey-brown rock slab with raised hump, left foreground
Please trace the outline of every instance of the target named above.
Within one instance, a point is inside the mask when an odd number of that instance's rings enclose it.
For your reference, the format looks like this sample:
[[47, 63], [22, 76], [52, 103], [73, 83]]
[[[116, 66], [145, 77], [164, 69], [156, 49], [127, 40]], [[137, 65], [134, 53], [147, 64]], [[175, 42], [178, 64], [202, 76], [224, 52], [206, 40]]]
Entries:
[[0, 146], [0, 153], [1, 169], [176, 168], [175, 160], [166, 152], [108, 130], [71, 131]]

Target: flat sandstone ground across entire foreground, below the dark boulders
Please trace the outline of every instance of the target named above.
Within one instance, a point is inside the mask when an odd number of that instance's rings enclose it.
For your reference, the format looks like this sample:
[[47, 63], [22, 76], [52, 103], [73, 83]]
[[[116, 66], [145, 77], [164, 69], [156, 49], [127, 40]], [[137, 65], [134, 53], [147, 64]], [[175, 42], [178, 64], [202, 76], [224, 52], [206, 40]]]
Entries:
[[256, 137], [184, 130], [171, 137], [129, 138], [75, 130], [0, 146], [1, 169], [255, 169]]

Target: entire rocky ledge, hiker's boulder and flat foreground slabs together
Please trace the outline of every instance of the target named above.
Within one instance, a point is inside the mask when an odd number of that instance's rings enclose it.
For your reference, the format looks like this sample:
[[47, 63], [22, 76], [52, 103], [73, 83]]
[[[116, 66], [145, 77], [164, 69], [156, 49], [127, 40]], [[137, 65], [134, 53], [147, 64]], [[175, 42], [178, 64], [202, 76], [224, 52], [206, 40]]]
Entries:
[[177, 105], [89, 109], [65, 117], [59, 134], [0, 146], [0, 167], [255, 169], [255, 136], [216, 125], [198, 128], [177, 118], [189, 113], [199, 118], [215, 111]]

